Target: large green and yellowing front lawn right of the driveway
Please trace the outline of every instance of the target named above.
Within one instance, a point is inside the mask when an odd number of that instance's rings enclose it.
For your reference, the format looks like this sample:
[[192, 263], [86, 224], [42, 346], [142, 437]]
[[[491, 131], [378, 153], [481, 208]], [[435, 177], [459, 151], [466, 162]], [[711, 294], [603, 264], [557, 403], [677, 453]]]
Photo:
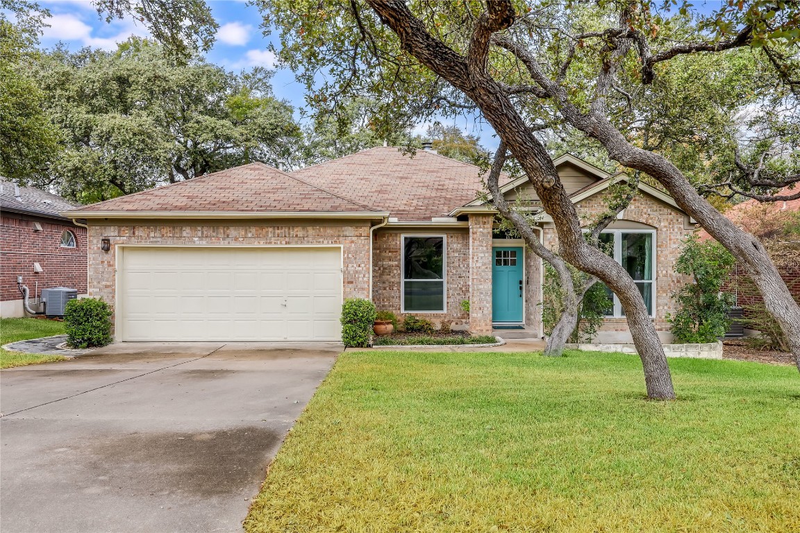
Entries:
[[796, 369], [635, 356], [345, 352], [254, 531], [800, 531]]

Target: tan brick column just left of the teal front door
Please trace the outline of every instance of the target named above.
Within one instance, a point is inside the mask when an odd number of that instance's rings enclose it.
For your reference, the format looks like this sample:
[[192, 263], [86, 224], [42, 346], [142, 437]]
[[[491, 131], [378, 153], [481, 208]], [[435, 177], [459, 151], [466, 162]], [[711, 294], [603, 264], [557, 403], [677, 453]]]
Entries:
[[492, 332], [492, 224], [494, 216], [470, 214], [470, 332]]

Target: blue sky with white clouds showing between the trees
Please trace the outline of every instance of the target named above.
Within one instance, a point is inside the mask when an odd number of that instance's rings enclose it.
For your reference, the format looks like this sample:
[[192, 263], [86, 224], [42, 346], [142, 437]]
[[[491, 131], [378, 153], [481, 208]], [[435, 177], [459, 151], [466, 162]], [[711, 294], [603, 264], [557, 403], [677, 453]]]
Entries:
[[[208, 61], [224, 66], [227, 70], [239, 71], [254, 66], [275, 67], [275, 56], [268, 50], [271, 36], [265, 37], [259, 27], [262, 18], [255, 6], [248, 6], [245, 0], [207, 0], [214, 18], [219, 23], [214, 47], [206, 54]], [[720, 0], [694, 2], [698, 9], [711, 10]], [[90, 0], [39, 0], [39, 4], [50, 10], [52, 18], [47, 22], [42, 35], [42, 46], [50, 48], [58, 42], [70, 50], [83, 46], [115, 50], [116, 43], [125, 41], [131, 34], [146, 37], [146, 27], [133, 19], [114, 20], [107, 23], [98, 15]], [[294, 80], [290, 70], [278, 69], [273, 78], [273, 89], [277, 97], [294, 105], [295, 116], [299, 119], [304, 100], [305, 88]], [[489, 125], [474, 121], [469, 117], [449, 121], [466, 133], [478, 135], [487, 149], [495, 149], [498, 141]], [[424, 134], [426, 124], [420, 124], [414, 133]]]

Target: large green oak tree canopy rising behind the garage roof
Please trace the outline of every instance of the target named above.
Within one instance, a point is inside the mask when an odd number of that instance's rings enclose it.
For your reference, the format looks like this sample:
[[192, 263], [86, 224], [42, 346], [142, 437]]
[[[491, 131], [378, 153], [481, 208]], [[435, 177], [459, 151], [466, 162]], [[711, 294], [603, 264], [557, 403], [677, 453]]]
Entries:
[[199, 56], [175, 63], [134, 37], [114, 52], [56, 49], [31, 67], [64, 137], [46, 183], [79, 201], [253, 161], [288, 168], [301, 137], [260, 68], [233, 74]]

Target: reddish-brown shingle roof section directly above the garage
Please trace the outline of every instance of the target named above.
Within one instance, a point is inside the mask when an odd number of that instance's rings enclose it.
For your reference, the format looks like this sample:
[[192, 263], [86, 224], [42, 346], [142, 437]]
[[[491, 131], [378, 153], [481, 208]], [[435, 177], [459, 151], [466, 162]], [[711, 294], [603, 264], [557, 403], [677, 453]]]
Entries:
[[86, 205], [73, 213], [121, 212], [354, 212], [372, 211], [366, 202], [329, 192], [263, 163], [250, 163]]

